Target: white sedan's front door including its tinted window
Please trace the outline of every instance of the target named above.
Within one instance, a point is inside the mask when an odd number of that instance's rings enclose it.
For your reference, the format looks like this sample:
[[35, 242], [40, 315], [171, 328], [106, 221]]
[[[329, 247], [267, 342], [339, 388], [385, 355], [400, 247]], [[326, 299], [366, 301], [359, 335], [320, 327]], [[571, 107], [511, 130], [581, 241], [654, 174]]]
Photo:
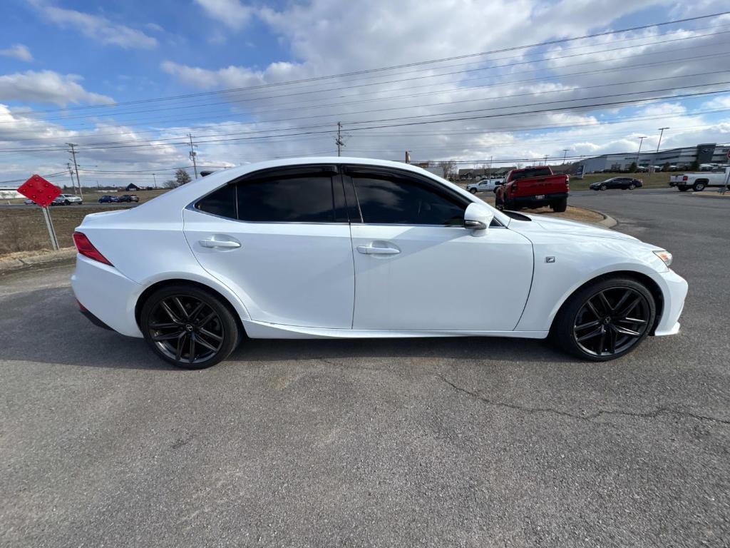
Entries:
[[526, 237], [498, 222], [482, 235], [464, 228], [469, 199], [411, 172], [347, 167], [345, 191], [358, 206], [354, 329], [515, 328], [532, 278]]

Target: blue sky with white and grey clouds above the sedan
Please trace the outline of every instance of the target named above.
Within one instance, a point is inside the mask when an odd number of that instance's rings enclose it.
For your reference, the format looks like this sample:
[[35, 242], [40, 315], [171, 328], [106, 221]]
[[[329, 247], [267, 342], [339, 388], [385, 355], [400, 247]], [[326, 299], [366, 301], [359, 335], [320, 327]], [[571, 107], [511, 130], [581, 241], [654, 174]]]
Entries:
[[348, 156], [464, 165], [636, 151], [641, 136], [646, 150], [664, 126], [661, 148], [728, 142], [730, 15], [658, 24], [726, 10], [4, 0], [0, 181], [66, 182], [66, 142], [85, 185], [170, 178], [191, 164], [188, 133], [210, 167], [333, 154], [338, 121]]

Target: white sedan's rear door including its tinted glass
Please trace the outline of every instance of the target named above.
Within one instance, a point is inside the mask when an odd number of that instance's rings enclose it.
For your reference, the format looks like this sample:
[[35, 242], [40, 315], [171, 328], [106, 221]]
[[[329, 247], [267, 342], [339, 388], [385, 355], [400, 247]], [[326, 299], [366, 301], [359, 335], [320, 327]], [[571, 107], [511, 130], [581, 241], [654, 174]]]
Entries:
[[251, 319], [350, 329], [355, 278], [344, 206], [337, 166], [264, 170], [189, 205], [185, 237]]

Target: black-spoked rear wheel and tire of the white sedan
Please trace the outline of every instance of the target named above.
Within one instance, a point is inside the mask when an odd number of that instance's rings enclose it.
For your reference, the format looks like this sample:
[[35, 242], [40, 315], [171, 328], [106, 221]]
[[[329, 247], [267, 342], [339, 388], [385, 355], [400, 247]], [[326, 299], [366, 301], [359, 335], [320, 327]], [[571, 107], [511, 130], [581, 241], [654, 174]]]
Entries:
[[241, 335], [228, 303], [186, 284], [167, 286], [147, 297], [139, 327], [158, 357], [183, 369], [210, 368], [226, 359]]

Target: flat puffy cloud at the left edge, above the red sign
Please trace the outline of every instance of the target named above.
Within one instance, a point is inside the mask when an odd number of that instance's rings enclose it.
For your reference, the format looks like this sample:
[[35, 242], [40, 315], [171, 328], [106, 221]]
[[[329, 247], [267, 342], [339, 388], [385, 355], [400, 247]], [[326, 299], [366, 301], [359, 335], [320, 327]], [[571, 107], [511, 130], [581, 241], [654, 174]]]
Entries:
[[113, 103], [106, 95], [86, 91], [78, 75], [60, 75], [52, 70], [15, 72], [0, 76], [0, 101], [53, 103]]

